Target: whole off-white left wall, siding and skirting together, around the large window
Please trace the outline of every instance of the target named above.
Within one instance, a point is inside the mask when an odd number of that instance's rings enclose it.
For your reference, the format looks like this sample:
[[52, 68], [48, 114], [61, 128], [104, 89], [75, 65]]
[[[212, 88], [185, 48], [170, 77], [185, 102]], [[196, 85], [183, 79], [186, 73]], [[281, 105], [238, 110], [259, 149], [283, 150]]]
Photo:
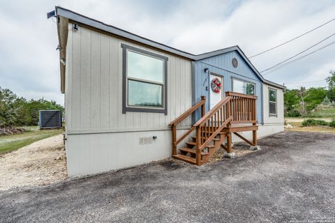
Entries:
[[[121, 43], [168, 56], [168, 115], [122, 114]], [[96, 174], [171, 156], [168, 124], [192, 106], [191, 61], [81, 26], [78, 31], [69, 31], [66, 53], [68, 176]], [[177, 134], [190, 125], [191, 117], [179, 124]], [[140, 143], [142, 137], [153, 136], [157, 139], [152, 144]]]

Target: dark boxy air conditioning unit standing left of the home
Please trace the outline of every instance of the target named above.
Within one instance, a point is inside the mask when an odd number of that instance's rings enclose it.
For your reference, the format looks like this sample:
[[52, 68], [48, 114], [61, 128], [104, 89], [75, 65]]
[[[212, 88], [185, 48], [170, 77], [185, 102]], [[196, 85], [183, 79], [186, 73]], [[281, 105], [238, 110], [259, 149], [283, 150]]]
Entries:
[[61, 111], [40, 110], [38, 125], [40, 126], [40, 129], [61, 128]]

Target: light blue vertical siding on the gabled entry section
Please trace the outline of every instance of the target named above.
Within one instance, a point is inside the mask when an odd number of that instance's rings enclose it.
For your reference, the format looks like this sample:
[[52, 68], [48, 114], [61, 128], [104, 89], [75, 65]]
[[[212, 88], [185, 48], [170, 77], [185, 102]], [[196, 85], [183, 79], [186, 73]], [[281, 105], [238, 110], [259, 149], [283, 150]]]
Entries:
[[[237, 68], [232, 66], [232, 58], [236, 58], [239, 62]], [[211, 58], [203, 59], [195, 62], [195, 78], [193, 84], [195, 86], [193, 101], [198, 102], [201, 95], [207, 97], [206, 110], [209, 110], [209, 77], [208, 73], [204, 72], [204, 68], [209, 68], [209, 72], [214, 72], [216, 75], [223, 76], [223, 91], [232, 91], [232, 77], [244, 79], [248, 82], [255, 83], [257, 100], [257, 118], [258, 123], [262, 123], [262, 82], [253, 73], [251, 68], [247, 66], [241, 56], [237, 52], [228, 52]], [[208, 87], [208, 91], [206, 90]], [[195, 120], [200, 118], [200, 111], [195, 113]]]

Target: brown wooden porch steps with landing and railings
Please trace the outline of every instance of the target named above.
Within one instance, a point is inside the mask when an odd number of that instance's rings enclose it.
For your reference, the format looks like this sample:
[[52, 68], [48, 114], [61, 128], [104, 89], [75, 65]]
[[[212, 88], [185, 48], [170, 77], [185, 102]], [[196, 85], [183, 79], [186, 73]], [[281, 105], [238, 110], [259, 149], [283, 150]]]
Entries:
[[[253, 95], [228, 91], [221, 102], [218, 102], [213, 109], [204, 114], [206, 98], [202, 96], [200, 102], [170, 123], [172, 128], [172, 157], [201, 165], [209, 161], [220, 146], [225, 148], [228, 153], [232, 153], [232, 133], [255, 146], [257, 144], [256, 131], [258, 130], [255, 112], [256, 100], [257, 97]], [[199, 108], [201, 109], [200, 120], [177, 139], [177, 124]], [[237, 128], [232, 127], [234, 123], [252, 123], [252, 125]], [[253, 142], [237, 133], [238, 131], [248, 130], [253, 131]], [[179, 148], [179, 153], [177, 153], [177, 145], [187, 137], [189, 140], [185, 142], [183, 148]], [[227, 146], [224, 145], [225, 141], [227, 141]]]

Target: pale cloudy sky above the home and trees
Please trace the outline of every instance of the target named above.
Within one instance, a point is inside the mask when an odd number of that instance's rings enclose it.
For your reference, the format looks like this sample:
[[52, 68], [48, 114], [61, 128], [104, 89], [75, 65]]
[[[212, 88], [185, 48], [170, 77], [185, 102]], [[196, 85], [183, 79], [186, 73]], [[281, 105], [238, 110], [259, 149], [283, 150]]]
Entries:
[[[335, 1], [1, 1], [0, 86], [25, 98], [56, 100], [60, 93], [57, 28], [46, 13], [62, 6], [151, 40], [200, 54], [239, 45], [246, 56], [278, 45], [335, 17]], [[297, 54], [335, 32], [335, 21], [257, 56], [258, 70]], [[322, 45], [335, 40], [329, 38]], [[320, 47], [322, 46], [320, 45]], [[315, 47], [317, 49], [318, 47]], [[289, 88], [326, 86], [335, 45], [265, 75]]]

